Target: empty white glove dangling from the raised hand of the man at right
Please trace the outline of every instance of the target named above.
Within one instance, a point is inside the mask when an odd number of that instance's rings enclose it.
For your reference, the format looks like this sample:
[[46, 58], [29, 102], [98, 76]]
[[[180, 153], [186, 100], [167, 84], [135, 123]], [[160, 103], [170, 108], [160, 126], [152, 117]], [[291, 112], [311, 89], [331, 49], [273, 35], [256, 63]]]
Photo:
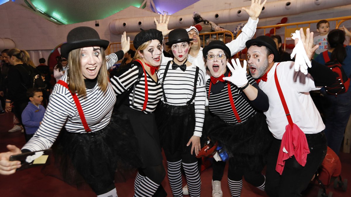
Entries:
[[295, 63], [294, 63], [294, 69], [295, 71], [300, 71], [303, 73], [303, 74], [307, 74], [307, 66], [311, 68], [311, 61], [310, 59], [307, 57], [307, 54], [306, 54], [306, 50], [304, 48], [304, 45], [301, 41], [301, 38], [300, 38], [300, 30], [296, 30], [295, 33], [292, 33], [292, 39], [296, 39], [298, 38], [299, 41], [297, 42], [297, 45], [294, 47], [294, 49], [292, 50], [292, 53], [291, 53], [291, 59], [296, 55], [295, 57]]

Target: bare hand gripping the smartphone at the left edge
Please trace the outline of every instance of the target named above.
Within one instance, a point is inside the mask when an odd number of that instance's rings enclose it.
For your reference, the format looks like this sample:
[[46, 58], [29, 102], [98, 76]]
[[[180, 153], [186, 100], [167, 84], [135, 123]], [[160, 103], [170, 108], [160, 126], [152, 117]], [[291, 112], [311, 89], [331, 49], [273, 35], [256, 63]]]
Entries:
[[0, 153], [0, 174], [11, 175], [21, 167], [20, 161], [9, 161], [11, 155], [21, 154], [21, 150], [14, 145], [7, 145], [8, 152]]

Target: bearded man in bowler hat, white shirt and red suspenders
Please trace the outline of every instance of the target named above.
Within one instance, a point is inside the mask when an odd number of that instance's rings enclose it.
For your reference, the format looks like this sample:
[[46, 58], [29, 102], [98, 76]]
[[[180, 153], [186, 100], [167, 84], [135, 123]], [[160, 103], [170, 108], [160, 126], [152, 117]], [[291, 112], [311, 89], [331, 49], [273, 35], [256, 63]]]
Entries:
[[[312, 47], [313, 32], [310, 33], [307, 28], [305, 37], [300, 29], [300, 37], [306, 55], [311, 60], [318, 47]], [[297, 39], [295, 45], [297, 45]], [[269, 196], [300, 196], [322, 163], [327, 150], [323, 132], [325, 126], [309, 91], [319, 90], [321, 86], [332, 84], [336, 80], [335, 75], [328, 67], [314, 60], [311, 61], [312, 67], [307, 69], [307, 74], [300, 70], [296, 71], [292, 61], [276, 63], [279, 60], [279, 52], [273, 39], [268, 36], [251, 39], [246, 42], [246, 47], [248, 48], [247, 63], [251, 76], [256, 79], [259, 88], [266, 93], [269, 99], [269, 109], [264, 114], [269, 130], [275, 138], [267, 156], [266, 192]], [[278, 94], [275, 75], [290, 113], [286, 113], [283, 108], [284, 100], [281, 101]], [[289, 124], [290, 122], [295, 123], [302, 132], [297, 131], [300, 133], [293, 133], [293, 137], [289, 138], [287, 135], [290, 132], [286, 130], [288, 122]], [[285, 135], [286, 133], [288, 134]], [[305, 149], [302, 149], [305, 152], [293, 152], [287, 147], [287, 143], [293, 142], [294, 138], [299, 136], [300, 141], [297, 145], [294, 144], [294, 148], [305, 146]], [[280, 151], [288, 154], [293, 152], [293, 156], [289, 155], [287, 159], [278, 157], [278, 155], [284, 155]], [[304, 154], [307, 155], [305, 160], [299, 157]], [[282, 167], [279, 159], [285, 161]]]

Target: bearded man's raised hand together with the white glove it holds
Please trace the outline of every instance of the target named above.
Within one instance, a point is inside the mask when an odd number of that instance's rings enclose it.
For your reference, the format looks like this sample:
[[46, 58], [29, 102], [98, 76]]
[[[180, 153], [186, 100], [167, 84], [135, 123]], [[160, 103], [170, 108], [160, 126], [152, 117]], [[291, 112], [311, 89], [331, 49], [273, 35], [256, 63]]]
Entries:
[[305, 36], [303, 29], [300, 28], [292, 34], [291, 38], [295, 40], [295, 47], [291, 53], [291, 57], [296, 55], [294, 69], [307, 74], [307, 66], [311, 68], [313, 53], [319, 47], [318, 45], [313, 47], [313, 32], [310, 32], [310, 28], [307, 28]]

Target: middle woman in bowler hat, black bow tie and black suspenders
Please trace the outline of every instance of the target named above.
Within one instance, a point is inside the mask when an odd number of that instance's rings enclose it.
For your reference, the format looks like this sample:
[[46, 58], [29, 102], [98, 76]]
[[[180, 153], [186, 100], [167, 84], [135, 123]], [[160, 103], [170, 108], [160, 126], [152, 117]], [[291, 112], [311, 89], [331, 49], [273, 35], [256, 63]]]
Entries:
[[200, 196], [201, 192], [196, 155], [201, 147], [206, 90], [204, 73], [187, 61], [190, 41], [185, 29], [172, 30], [166, 45], [173, 60], [161, 65], [158, 72], [163, 96], [156, 109], [156, 120], [173, 196], [183, 196], [182, 165], [190, 196]]

